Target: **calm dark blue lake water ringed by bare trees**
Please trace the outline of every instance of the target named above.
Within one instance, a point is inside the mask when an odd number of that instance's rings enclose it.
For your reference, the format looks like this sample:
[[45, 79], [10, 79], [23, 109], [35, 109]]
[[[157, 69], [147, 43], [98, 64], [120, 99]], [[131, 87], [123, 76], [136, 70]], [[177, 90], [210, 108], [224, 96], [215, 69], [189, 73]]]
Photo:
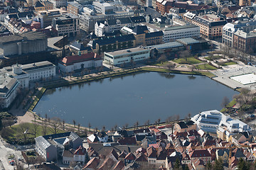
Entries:
[[65, 122], [111, 129], [136, 121], [144, 125], [171, 115], [221, 109], [224, 96], [232, 100], [237, 91], [201, 76], [144, 72], [122, 78], [103, 79], [46, 91], [33, 110], [42, 117], [59, 117]]

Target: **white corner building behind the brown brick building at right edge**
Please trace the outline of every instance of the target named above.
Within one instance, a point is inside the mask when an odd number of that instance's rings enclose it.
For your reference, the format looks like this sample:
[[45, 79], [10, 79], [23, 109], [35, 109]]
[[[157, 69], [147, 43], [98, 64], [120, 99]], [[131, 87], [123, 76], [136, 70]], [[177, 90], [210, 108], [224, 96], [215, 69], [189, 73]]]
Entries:
[[238, 31], [238, 29], [243, 30], [245, 33], [249, 33], [250, 31], [256, 28], [255, 21], [235, 21], [235, 23], [227, 23], [223, 26], [223, 44], [228, 45], [229, 47], [233, 47], [234, 42], [234, 33]]

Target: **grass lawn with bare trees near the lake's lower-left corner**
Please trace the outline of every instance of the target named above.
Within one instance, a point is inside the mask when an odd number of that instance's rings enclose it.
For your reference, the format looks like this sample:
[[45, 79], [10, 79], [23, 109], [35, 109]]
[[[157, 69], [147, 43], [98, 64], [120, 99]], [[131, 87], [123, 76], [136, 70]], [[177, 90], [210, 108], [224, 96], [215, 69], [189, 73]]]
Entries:
[[[26, 127], [26, 129], [28, 130], [28, 135], [27, 135], [27, 140], [29, 140], [30, 142], [33, 142], [33, 138], [35, 137], [35, 135], [33, 134], [33, 123], [24, 123], [24, 127]], [[8, 128], [4, 129], [4, 135], [2, 134], [2, 137], [4, 137], [4, 139], [9, 140], [9, 141], [13, 141], [13, 142], [18, 142], [18, 141], [23, 141], [23, 134], [22, 134], [22, 130], [21, 130], [21, 125], [13, 125]], [[43, 126], [42, 125], [38, 125], [38, 128], [36, 130], [36, 137], [38, 136], [42, 136], [43, 134]], [[65, 132], [64, 130], [58, 130], [59, 132]], [[50, 135], [53, 134], [53, 128], [47, 128], [47, 132], [46, 135]]]

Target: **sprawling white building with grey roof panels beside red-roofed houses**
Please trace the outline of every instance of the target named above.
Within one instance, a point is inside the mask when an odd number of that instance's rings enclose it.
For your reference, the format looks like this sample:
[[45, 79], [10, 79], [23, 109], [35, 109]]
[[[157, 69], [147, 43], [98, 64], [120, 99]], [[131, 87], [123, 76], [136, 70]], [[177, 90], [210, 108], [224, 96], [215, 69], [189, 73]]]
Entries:
[[229, 115], [213, 110], [203, 111], [191, 118], [198, 127], [198, 130], [205, 132], [217, 132], [218, 128], [224, 128], [229, 132], [245, 132], [249, 131], [250, 127], [240, 120], [233, 120]]

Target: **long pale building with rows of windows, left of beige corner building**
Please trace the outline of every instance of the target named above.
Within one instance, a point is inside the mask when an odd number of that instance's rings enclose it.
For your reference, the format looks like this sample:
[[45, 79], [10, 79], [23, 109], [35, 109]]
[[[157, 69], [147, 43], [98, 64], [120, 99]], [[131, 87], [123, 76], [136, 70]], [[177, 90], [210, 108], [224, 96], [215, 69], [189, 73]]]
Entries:
[[200, 37], [200, 27], [193, 24], [188, 26], [172, 26], [163, 30], [164, 42], [170, 42], [181, 38]]

